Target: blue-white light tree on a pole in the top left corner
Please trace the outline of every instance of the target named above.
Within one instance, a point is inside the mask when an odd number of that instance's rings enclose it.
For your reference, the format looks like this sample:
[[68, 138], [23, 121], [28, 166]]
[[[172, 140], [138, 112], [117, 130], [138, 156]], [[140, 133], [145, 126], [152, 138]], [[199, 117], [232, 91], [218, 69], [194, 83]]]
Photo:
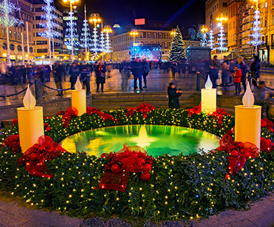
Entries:
[[8, 66], [10, 67], [12, 64], [10, 62], [10, 34], [9, 27], [14, 27], [14, 25], [21, 25], [23, 21], [20, 21], [18, 18], [14, 16], [14, 12], [20, 11], [20, 8], [16, 7], [14, 3], [11, 3], [8, 0], [0, 1], [0, 25], [5, 27], [5, 33], [7, 35], [7, 47], [8, 47]]

